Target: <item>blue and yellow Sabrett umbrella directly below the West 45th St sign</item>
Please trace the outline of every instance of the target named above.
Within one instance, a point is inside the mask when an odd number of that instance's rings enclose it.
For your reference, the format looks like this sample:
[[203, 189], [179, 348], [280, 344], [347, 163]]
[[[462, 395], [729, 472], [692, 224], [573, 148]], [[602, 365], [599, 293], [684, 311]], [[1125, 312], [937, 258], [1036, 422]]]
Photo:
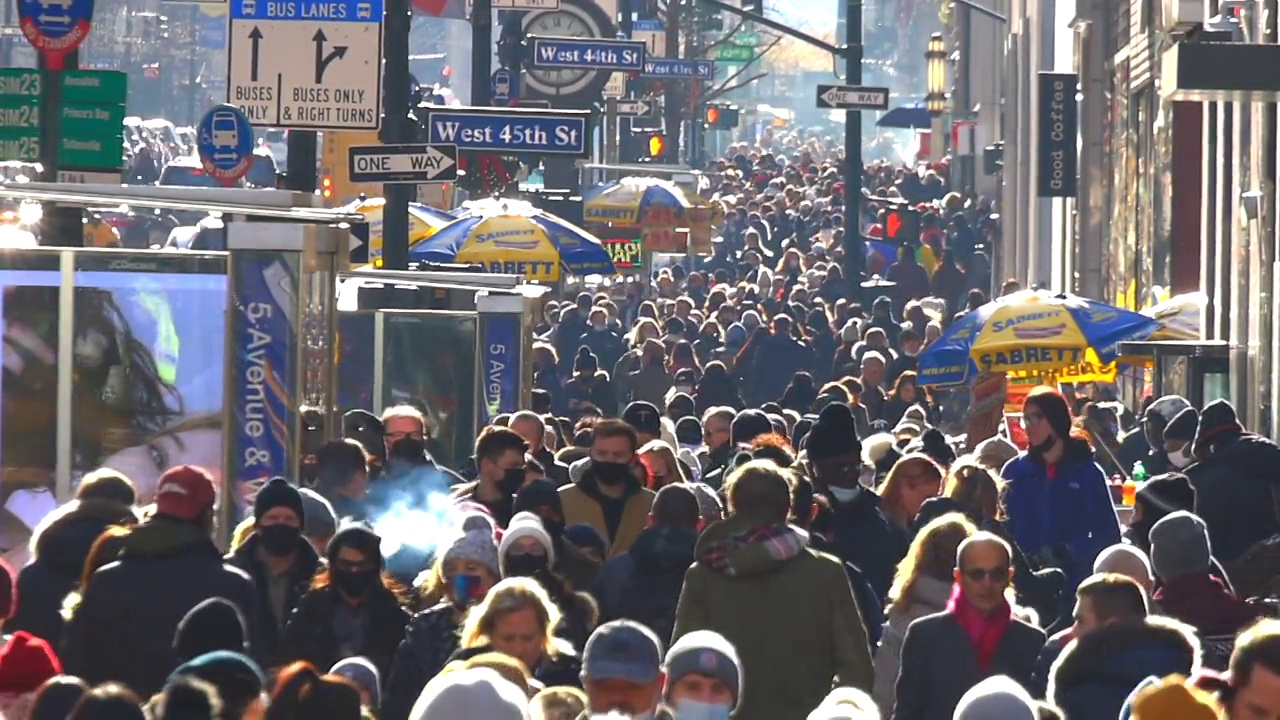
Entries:
[[609, 252], [582, 228], [527, 204], [499, 204], [468, 214], [410, 247], [410, 260], [475, 263], [490, 273], [556, 282], [561, 268], [576, 275], [617, 273]]

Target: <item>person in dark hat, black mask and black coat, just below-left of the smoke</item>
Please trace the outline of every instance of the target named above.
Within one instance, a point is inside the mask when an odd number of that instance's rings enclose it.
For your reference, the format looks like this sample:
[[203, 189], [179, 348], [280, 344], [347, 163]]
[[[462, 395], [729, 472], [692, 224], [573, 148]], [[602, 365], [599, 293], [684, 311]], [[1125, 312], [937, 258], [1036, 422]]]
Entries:
[[305, 660], [333, 667], [339, 660], [367, 657], [388, 676], [410, 615], [399, 587], [384, 573], [381, 538], [364, 525], [343, 528], [329, 541], [328, 566], [280, 635], [280, 664]]

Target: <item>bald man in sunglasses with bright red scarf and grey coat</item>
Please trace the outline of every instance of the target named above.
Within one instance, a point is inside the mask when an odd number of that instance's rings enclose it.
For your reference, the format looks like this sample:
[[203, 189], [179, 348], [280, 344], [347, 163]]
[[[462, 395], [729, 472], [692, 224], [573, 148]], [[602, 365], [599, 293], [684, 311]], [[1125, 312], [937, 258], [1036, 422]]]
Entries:
[[906, 629], [893, 720], [951, 720], [969, 688], [993, 675], [1028, 685], [1044, 633], [1014, 616], [1005, 598], [1012, 574], [1012, 552], [998, 536], [979, 532], [960, 543], [960, 592]]

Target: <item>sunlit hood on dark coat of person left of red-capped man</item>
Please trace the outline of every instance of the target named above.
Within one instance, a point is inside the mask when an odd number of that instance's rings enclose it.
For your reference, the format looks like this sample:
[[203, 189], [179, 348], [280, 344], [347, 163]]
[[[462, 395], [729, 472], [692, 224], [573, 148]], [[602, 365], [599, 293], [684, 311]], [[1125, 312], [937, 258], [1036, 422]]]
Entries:
[[79, 579], [93, 541], [109, 525], [133, 525], [134, 510], [109, 500], [73, 500], [45, 516], [31, 534], [32, 560]]

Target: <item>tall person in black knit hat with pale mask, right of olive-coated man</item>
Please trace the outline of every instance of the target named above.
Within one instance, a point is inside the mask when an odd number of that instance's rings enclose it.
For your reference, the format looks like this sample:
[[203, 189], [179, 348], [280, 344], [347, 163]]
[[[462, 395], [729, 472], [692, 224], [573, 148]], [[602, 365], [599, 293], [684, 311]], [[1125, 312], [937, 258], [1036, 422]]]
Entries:
[[814, 489], [832, 509], [829, 536], [815, 547], [861, 570], [876, 597], [884, 597], [910, 538], [867, 487], [874, 474], [863, 471], [861, 443], [847, 405], [833, 402], [822, 409], [804, 451]]

